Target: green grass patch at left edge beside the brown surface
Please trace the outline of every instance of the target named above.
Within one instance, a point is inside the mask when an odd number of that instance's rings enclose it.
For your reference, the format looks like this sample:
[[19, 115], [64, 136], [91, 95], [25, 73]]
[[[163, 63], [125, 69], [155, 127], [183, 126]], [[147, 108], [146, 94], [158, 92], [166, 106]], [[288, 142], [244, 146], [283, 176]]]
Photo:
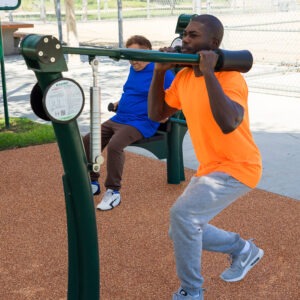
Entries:
[[9, 125], [9, 128], [6, 128], [5, 120], [0, 118], [0, 151], [56, 141], [50, 125], [27, 118], [10, 118]]

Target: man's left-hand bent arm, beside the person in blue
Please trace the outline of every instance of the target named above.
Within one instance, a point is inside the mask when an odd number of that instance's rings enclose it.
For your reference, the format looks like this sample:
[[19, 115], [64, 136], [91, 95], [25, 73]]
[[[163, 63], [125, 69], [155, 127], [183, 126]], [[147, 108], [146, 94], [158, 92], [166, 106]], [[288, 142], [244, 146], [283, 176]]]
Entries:
[[168, 68], [162, 65], [159, 63], [155, 64], [148, 93], [148, 117], [156, 122], [161, 122], [177, 111], [176, 108], [170, 107], [165, 102], [164, 78]]

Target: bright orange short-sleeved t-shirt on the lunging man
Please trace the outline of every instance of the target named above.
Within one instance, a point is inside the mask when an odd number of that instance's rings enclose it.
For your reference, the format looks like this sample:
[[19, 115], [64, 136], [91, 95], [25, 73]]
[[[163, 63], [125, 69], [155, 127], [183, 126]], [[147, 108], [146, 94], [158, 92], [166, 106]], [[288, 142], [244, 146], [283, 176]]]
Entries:
[[185, 115], [200, 162], [196, 176], [225, 172], [254, 188], [261, 177], [262, 163], [250, 132], [246, 82], [238, 72], [216, 72], [215, 75], [225, 94], [244, 108], [244, 119], [233, 132], [222, 133], [211, 112], [204, 78], [195, 77], [191, 68], [184, 68], [176, 75], [166, 90], [165, 100]]

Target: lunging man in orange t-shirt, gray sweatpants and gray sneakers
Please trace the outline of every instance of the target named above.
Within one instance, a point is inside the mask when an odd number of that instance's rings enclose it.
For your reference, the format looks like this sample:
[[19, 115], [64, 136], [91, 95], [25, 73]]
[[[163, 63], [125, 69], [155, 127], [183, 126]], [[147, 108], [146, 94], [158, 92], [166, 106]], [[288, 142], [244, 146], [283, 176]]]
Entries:
[[[221, 278], [243, 279], [264, 252], [252, 240], [209, 222], [254, 188], [261, 177], [261, 156], [249, 128], [248, 88], [238, 72], [215, 72], [224, 28], [212, 15], [194, 16], [183, 33], [182, 53], [198, 53], [198, 65], [183, 68], [164, 91], [169, 63], [156, 63], [148, 95], [155, 121], [182, 109], [200, 166], [170, 211], [181, 286], [173, 300], [203, 298], [202, 250], [227, 253], [231, 266]], [[169, 49], [161, 49], [168, 51]]]

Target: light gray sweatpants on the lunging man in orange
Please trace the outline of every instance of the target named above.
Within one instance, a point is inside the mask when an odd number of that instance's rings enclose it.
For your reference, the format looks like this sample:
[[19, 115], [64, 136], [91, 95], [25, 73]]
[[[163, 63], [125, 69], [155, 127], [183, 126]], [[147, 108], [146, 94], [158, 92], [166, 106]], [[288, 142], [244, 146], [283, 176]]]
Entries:
[[[170, 237], [181, 287], [200, 290], [202, 249], [238, 254], [245, 245], [237, 233], [208, 224], [250, 188], [233, 177], [214, 172], [193, 177], [170, 211]], [[242, 216], [241, 216], [242, 217]]]

